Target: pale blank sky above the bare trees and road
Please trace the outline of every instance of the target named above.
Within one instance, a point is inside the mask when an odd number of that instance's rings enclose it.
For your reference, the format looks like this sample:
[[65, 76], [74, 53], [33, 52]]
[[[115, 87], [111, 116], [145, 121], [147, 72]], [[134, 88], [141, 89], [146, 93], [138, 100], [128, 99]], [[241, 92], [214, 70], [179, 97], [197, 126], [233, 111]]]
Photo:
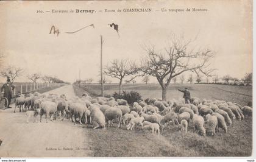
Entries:
[[[207, 9], [207, 12], [160, 12], [165, 9]], [[124, 13], [123, 9], [152, 8], [153, 12]], [[46, 13], [46, 10], [96, 10], [96, 13]], [[121, 9], [122, 12], [104, 12]], [[44, 13], [36, 13], [43, 10]], [[103, 10], [103, 12], [98, 12]], [[216, 52], [210, 63], [215, 74], [241, 78], [252, 72], [252, 6], [250, 1], [27, 1], [0, 2], [0, 52], [2, 66], [23, 69], [16, 82], [26, 82], [27, 74], [39, 72], [74, 82], [99, 80], [100, 35], [103, 65], [114, 58], [140, 62], [145, 44], [158, 51], [166, 48], [171, 34], [194, 39], [197, 48]], [[116, 31], [108, 24], [116, 23]], [[94, 24], [79, 32], [68, 34]], [[51, 26], [60, 34], [49, 34]], [[116, 79], [107, 79], [117, 82]], [[0, 82], [4, 82], [0, 78]], [[137, 79], [141, 82], [141, 78]], [[154, 82], [154, 79], [152, 79]]]

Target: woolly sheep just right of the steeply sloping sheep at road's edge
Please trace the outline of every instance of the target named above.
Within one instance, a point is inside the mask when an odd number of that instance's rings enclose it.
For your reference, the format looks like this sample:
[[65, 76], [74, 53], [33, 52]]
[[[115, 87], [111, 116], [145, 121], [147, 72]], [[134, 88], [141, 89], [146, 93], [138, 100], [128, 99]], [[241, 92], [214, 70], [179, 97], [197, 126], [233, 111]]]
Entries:
[[113, 119], [118, 121], [118, 128], [121, 128], [122, 111], [119, 108], [112, 107], [107, 109], [104, 113], [105, 119], [108, 122], [108, 127], [113, 126]]

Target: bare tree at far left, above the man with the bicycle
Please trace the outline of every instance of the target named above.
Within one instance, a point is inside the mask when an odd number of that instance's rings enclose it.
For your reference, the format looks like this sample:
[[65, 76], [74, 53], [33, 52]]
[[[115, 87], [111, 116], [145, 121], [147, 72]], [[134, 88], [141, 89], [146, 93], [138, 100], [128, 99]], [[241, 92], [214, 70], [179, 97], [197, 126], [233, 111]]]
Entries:
[[4, 68], [0, 71], [0, 75], [2, 77], [9, 77], [11, 82], [13, 83], [16, 77], [21, 76], [23, 69], [16, 68], [14, 66], [8, 66], [7, 68]]

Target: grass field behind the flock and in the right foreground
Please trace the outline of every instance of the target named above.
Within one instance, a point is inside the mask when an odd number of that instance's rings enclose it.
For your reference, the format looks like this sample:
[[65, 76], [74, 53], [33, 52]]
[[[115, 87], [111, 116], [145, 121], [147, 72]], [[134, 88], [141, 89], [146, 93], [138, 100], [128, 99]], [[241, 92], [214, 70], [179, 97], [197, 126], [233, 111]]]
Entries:
[[[100, 85], [87, 85], [79, 88], [74, 85], [77, 96], [87, 91], [91, 96], [100, 94]], [[182, 93], [178, 88], [189, 88], [191, 96], [205, 99], [221, 99], [246, 105], [252, 101], [251, 86], [229, 85], [171, 85], [168, 99], [178, 99]], [[143, 99], [161, 97], [158, 85], [124, 85], [123, 90], [136, 90]], [[118, 85], [105, 85], [105, 94], [118, 91]], [[228, 132], [222, 130], [215, 136], [199, 136], [193, 133], [191, 125], [188, 133], [179, 131], [176, 125], [161, 132], [160, 138], [148, 130], [126, 130], [117, 127], [90, 131], [89, 143], [94, 148], [96, 157], [248, 157], [252, 154], [252, 119], [234, 121]]]

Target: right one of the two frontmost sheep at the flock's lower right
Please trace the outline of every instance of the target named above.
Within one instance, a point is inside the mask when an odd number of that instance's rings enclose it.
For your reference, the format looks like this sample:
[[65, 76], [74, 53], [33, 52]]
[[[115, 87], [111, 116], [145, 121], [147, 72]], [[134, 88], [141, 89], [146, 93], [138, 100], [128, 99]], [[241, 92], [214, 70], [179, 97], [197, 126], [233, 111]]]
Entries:
[[211, 114], [207, 114], [205, 118], [206, 118], [205, 121], [207, 122], [206, 132], [209, 135], [214, 136], [215, 130], [218, 127], [218, 118]]

